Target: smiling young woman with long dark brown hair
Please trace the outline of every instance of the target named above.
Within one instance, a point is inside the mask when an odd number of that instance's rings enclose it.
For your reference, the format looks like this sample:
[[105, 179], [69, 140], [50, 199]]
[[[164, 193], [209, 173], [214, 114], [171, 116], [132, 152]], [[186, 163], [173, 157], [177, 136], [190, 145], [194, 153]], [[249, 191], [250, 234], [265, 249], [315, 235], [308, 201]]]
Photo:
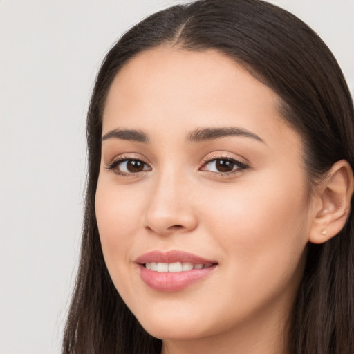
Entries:
[[258, 0], [174, 6], [104, 59], [63, 353], [354, 352], [354, 112]]

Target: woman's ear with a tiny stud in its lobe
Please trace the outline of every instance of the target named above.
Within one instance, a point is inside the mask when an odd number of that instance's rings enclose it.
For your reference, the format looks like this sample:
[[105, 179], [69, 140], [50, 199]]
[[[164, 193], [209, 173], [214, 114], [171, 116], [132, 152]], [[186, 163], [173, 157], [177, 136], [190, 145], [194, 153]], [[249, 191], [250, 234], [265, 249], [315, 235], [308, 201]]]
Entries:
[[353, 171], [348, 162], [335, 162], [317, 186], [315, 217], [308, 241], [324, 243], [342, 230], [350, 212], [353, 184]]

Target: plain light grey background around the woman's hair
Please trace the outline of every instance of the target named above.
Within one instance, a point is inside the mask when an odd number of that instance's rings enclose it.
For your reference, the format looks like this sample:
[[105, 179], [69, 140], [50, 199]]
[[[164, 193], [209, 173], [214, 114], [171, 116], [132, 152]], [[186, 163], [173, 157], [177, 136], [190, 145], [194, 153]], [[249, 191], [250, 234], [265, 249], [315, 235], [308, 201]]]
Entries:
[[[0, 0], [0, 353], [59, 353], [80, 248], [85, 115], [97, 68], [181, 1]], [[312, 26], [354, 91], [354, 1], [272, 0]]]

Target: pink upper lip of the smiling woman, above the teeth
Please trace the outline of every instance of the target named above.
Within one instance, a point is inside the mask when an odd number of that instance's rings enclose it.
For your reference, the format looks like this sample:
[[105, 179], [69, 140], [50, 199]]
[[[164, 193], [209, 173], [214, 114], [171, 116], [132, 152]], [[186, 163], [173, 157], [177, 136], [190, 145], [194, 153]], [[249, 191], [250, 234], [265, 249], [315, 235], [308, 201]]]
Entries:
[[194, 264], [217, 263], [212, 259], [205, 259], [203, 257], [196, 256], [196, 254], [178, 251], [178, 250], [172, 250], [168, 252], [155, 250], [155, 251], [147, 252], [139, 256], [135, 262], [138, 264], [145, 264], [148, 262], [156, 262], [156, 263], [190, 262]]

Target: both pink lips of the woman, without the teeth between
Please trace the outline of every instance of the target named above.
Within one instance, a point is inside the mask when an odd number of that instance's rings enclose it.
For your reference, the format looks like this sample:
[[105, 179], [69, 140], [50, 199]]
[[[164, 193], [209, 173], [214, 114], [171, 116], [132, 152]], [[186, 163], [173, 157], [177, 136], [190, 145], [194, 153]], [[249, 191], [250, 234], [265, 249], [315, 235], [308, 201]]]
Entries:
[[[184, 272], [156, 272], [145, 268], [145, 263], [174, 263], [174, 262], [190, 262], [194, 264], [198, 263], [212, 263], [209, 268], [192, 269]], [[181, 251], [169, 251], [160, 252], [153, 251], [146, 254], [142, 254], [136, 259], [138, 269], [140, 270], [140, 277], [147, 286], [153, 290], [174, 292], [187, 288], [188, 286], [196, 283], [210, 274], [217, 265], [216, 261], [198, 257], [195, 254], [181, 252]]]

